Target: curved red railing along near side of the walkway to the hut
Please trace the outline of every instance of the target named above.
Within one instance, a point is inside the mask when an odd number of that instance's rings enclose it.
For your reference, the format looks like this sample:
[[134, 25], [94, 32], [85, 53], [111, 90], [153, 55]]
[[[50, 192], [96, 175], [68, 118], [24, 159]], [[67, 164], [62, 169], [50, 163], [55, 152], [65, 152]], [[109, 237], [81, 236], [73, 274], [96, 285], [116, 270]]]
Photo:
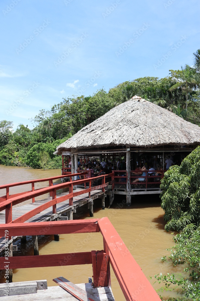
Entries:
[[[70, 177], [72, 176], [77, 176], [77, 175], [82, 175], [83, 173], [76, 173], [76, 174], [71, 174]], [[87, 172], [85, 172], [87, 174]], [[112, 178], [112, 181], [106, 182], [106, 178]], [[66, 183], [61, 183], [45, 188], [40, 188], [34, 191], [28, 191], [28, 192], [23, 192], [20, 195], [17, 194], [16, 196], [9, 196], [7, 200], [2, 200], [0, 203], [0, 211], [5, 209], [5, 223], [19, 223], [19, 222], [25, 222], [26, 220], [30, 219], [31, 217], [35, 216], [36, 214], [42, 212], [43, 210], [49, 208], [52, 206], [52, 213], [56, 213], [56, 204], [61, 203], [65, 200], [69, 200], [69, 206], [73, 206], [73, 197], [76, 197], [81, 194], [88, 193], [88, 197], [91, 195], [91, 191], [97, 190], [97, 189], [102, 189], [102, 192], [105, 193], [105, 187], [108, 185], [111, 185], [114, 183], [113, 179], [113, 174], [110, 173], [108, 175], [100, 175], [96, 177], [96, 179], [102, 179], [102, 184], [93, 186], [91, 187], [91, 182], [94, 180], [94, 178], [87, 178], [87, 179], [82, 179], [82, 180], [76, 180], [76, 181], [70, 181]], [[74, 185], [81, 185], [89, 182], [89, 188], [83, 189], [81, 191], [73, 191], [73, 186]], [[14, 184], [20, 185], [19, 183], [13, 183], [9, 184], [14, 186]], [[6, 187], [6, 185], [3, 185]], [[2, 188], [5, 188], [2, 187]], [[69, 193], [67, 195], [64, 195], [62, 197], [56, 197], [56, 191], [61, 188], [69, 188]], [[52, 200], [32, 209], [31, 211], [25, 213], [24, 215], [20, 216], [17, 219], [12, 220], [12, 206], [19, 204], [21, 202], [24, 202], [26, 200], [29, 200], [31, 198], [46, 194], [46, 193], [52, 193]]]

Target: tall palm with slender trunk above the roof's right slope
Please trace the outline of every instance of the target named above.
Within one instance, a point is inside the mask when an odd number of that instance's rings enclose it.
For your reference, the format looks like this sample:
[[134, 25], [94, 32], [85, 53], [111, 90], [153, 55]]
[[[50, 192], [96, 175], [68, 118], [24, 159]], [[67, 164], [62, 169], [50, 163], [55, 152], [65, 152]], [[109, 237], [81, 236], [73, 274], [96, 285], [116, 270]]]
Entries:
[[173, 91], [178, 87], [183, 87], [186, 91], [186, 110], [187, 110], [187, 101], [188, 93], [191, 89], [195, 89], [200, 82], [199, 73], [196, 68], [192, 68], [189, 65], [186, 65], [185, 68], [181, 67], [182, 71], [179, 72], [176, 76], [178, 82], [169, 88], [169, 91]]

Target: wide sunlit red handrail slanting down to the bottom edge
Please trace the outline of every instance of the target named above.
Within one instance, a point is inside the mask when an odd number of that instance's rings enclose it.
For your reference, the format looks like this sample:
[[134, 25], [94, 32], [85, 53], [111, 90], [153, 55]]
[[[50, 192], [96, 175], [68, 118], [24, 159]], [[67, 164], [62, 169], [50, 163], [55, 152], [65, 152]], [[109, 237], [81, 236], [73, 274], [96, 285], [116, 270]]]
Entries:
[[98, 225], [108, 245], [110, 262], [126, 300], [160, 301], [109, 219], [99, 219]]

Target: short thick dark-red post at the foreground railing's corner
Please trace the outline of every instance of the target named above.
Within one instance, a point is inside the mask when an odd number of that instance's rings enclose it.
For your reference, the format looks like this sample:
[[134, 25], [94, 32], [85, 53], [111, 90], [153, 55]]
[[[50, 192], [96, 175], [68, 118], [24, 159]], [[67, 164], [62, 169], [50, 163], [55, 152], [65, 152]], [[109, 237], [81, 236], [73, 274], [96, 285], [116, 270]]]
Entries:
[[109, 257], [101, 251], [91, 251], [92, 255], [92, 269], [93, 269], [93, 283], [94, 287], [106, 287], [109, 285], [108, 280], [108, 265]]

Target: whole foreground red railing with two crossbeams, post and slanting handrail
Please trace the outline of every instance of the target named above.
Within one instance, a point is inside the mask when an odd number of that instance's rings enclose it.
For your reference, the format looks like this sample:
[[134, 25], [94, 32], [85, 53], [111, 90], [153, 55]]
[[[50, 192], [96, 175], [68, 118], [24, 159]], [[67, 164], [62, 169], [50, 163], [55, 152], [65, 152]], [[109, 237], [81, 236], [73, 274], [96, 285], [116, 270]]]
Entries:
[[[103, 250], [38, 256], [9, 257], [9, 268], [34, 268], [92, 264], [94, 287], [110, 286], [110, 264], [126, 300], [159, 301], [157, 295], [141, 268], [130, 254], [121, 237], [107, 217], [59, 222], [36, 222], [0, 225], [0, 235], [5, 229], [10, 236], [44, 234], [71, 234], [100, 232], [103, 236]], [[0, 258], [0, 269], [5, 268], [4, 257]]]

